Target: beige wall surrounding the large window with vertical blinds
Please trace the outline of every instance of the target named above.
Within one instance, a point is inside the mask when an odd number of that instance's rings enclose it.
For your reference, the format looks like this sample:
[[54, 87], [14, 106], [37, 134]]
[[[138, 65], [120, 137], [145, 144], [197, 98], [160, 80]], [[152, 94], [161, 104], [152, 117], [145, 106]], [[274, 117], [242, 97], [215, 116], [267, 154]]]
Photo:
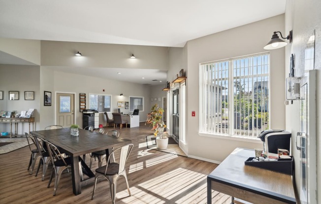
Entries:
[[[199, 129], [199, 63], [264, 52], [263, 47], [271, 39], [273, 31], [284, 30], [284, 15], [258, 21], [245, 26], [191, 40], [187, 43], [187, 142], [189, 156], [220, 162], [236, 147], [254, 149], [261, 142], [251, 143], [198, 135]], [[270, 52], [271, 64], [271, 126], [285, 128], [285, 50]], [[191, 112], [196, 111], [196, 117]], [[192, 145], [193, 144], [193, 145]]]

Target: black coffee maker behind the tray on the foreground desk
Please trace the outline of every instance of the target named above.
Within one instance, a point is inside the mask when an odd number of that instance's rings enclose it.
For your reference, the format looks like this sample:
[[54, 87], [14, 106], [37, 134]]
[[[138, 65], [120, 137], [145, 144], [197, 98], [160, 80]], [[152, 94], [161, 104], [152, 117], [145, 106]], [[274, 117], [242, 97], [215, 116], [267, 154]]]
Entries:
[[278, 153], [278, 149], [290, 152], [291, 132], [283, 129], [263, 130], [257, 136], [263, 142], [264, 153]]

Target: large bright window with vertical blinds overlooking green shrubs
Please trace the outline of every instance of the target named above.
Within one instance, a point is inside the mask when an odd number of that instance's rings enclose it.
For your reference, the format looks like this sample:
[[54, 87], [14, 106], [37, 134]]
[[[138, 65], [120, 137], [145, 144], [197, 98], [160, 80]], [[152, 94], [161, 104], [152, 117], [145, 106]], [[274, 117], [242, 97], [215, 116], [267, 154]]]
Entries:
[[201, 63], [200, 133], [256, 137], [269, 128], [269, 52]]

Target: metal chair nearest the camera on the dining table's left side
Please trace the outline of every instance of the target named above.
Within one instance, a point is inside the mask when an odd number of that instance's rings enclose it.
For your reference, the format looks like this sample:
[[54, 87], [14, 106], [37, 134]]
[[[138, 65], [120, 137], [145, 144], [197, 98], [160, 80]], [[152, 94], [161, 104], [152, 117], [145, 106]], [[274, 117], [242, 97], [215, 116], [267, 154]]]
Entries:
[[[71, 159], [72, 157], [66, 157], [64, 158], [64, 156], [62, 155], [62, 153], [60, 153], [60, 151], [58, 150], [58, 148], [44, 140], [50, 155], [50, 159], [51, 159], [51, 163], [53, 164], [53, 168], [52, 168], [52, 172], [51, 172], [51, 176], [49, 179], [49, 183], [48, 183], [48, 188], [50, 187], [52, 178], [55, 175], [55, 187], [54, 187], [54, 196], [56, 195], [57, 192], [57, 188], [58, 188], [58, 184], [59, 184], [59, 180], [61, 178], [62, 172], [67, 169], [67, 168], [71, 168]], [[81, 159], [79, 157], [79, 174], [80, 174], [80, 178], [83, 180], [83, 174], [82, 174], [82, 167], [81, 167]]]

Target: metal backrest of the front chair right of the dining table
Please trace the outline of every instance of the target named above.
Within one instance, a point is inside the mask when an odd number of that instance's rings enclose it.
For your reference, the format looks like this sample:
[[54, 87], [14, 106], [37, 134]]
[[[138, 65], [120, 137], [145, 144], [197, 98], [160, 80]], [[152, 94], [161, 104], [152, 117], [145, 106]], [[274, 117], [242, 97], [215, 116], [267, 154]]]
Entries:
[[[111, 160], [111, 159], [114, 159], [115, 162], [119, 164], [118, 174], [125, 171], [126, 162], [127, 162], [128, 156], [129, 156], [133, 146], [134, 146], [133, 144], [124, 145], [123, 147], [118, 148], [118, 149], [114, 150], [112, 153], [110, 153], [108, 158], [106, 157], [107, 165], [106, 165], [106, 169], [105, 169], [105, 174], [107, 172], [109, 160]], [[120, 152], [120, 153], [115, 154], [117, 152]]]

